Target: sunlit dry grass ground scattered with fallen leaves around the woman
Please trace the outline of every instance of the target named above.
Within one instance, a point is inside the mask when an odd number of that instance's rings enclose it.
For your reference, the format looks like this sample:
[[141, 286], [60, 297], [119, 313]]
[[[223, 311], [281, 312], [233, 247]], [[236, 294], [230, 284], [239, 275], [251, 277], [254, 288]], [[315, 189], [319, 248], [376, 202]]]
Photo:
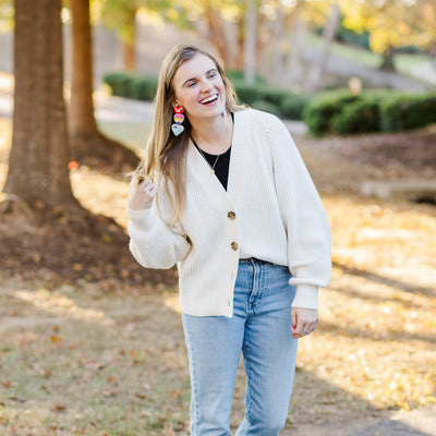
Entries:
[[[405, 156], [408, 144], [427, 156], [427, 135], [385, 136], [399, 145], [385, 149], [380, 136], [296, 141], [329, 215], [334, 277], [320, 292], [318, 329], [300, 341], [286, 434], [310, 425], [332, 436], [361, 419], [436, 402], [436, 207], [358, 193], [367, 178], [428, 177], [434, 161], [408, 165]], [[72, 183], [85, 207], [125, 227], [121, 178], [78, 167]], [[105, 244], [89, 251], [113, 241]], [[9, 259], [11, 269], [1, 259], [0, 434], [187, 435], [187, 361], [171, 280], [159, 284], [128, 266], [87, 276], [80, 262], [63, 279], [38, 256], [22, 270], [19, 261]], [[243, 391], [241, 368], [233, 427]]]

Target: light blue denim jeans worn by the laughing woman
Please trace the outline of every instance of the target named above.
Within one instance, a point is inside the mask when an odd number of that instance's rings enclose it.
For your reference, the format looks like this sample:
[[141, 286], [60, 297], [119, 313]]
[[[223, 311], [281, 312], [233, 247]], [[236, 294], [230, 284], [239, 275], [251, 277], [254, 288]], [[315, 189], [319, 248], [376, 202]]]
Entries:
[[288, 415], [298, 340], [291, 337], [295, 287], [288, 268], [240, 261], [233, 316], [183, 314], [191, 374], [191, 435], [230, 436], [241, 351], [245, 417], [235, 436], [277, 436]]

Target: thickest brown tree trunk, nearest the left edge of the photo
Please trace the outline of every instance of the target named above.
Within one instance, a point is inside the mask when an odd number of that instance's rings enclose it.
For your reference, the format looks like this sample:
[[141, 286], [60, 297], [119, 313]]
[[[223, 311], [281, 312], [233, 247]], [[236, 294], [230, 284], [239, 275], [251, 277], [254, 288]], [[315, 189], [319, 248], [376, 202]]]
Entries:
[[15, 0], [15, 95], [4, 192], [77, 206], [69, 178], [60, 0]]

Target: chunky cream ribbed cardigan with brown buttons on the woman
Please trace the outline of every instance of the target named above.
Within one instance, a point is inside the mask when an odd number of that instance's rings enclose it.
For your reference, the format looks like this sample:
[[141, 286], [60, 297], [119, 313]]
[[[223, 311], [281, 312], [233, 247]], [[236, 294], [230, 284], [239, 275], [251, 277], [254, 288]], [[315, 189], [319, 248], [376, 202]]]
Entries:
[[146, 268], [179, 269], [182, 312], [233, 314], [240, 258], [287, 265], [294, 307], [317, 308], [330, 280], [330, 228], [323, 204], [283, 123], [266, 112], [234, 113], [227, 192], [195, 146], [186, 156], [186, 204], [174, 228], [168, 199], [129, 209], [130, 250]]

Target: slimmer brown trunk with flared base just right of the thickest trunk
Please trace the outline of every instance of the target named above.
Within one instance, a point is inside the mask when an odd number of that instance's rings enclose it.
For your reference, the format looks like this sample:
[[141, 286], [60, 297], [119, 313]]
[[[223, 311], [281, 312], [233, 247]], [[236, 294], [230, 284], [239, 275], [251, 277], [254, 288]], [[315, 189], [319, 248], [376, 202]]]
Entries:
[[137, 156], [118, 142], [104, 136], [97, 128], [93, 101], [93, 41], [89, 0], [71, 0], [72, 11], [72, 85], [70, 101], [70, 138], [72, 156], [80, 161], [134, 167]]

